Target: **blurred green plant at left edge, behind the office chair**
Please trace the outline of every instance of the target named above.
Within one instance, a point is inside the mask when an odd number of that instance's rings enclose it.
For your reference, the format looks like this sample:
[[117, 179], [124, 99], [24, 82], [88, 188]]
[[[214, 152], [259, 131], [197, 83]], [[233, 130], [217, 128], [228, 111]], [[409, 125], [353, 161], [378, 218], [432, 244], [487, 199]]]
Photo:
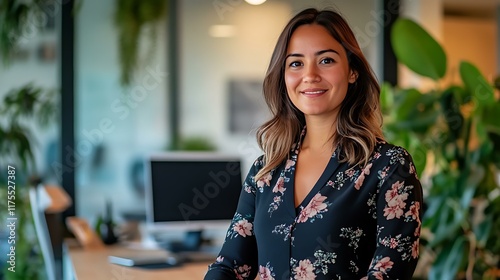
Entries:
[[[2, 227], [2, 244], [7, 260], [5, 279], [43, 278], [43, 261], [34, 232], [28, 187], [35, 175], [33, 124], [46, 126], [56, 110], [54, 91], [27, 84], [9, 91], [0, 103], [0, 216], [15, 218], [10, 227]], [[2, 254], [3, 255], [3, 254]], [[5, 255], [2, 259], [5, 258]]]

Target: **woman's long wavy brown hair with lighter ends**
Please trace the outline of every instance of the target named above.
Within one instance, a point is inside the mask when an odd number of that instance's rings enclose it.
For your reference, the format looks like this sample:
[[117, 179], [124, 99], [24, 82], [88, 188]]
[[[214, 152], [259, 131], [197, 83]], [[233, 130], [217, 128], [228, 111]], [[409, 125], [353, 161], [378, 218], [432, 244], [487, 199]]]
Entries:
[[257, 143], [264, 151], [264, 167], [257, 173], [258, 180], [287, 159], [292, 145], [305, 126], [304, 114], [288, 98], [285, 85], [285, 59], [288, 44], [297, 27], [318, 24], [326, 28], [346, 50], [350, 69], [357, 74], [356, 82], [349, 84], [335, 122], [334, 145], [342, 148], [342, 161], [351, 165], [365, 165], [378, 140], [382, 140], [382, 113], [380, 87], [363, 55], [349, 24], [332, 10], [309, 8], [295, 15], [285, 26], [274, 48], [263, 91], [273, 117], [257, 130]]

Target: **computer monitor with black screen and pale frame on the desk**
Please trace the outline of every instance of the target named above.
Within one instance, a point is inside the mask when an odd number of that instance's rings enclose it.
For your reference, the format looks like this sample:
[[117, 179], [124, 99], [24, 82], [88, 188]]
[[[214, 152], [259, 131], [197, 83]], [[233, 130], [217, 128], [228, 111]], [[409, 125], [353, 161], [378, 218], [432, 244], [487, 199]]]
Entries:
[[147, 166], [149, 223], [204, 228], [233, 218], [242, 188], [238, 157], [168, 152], [149, 157]]

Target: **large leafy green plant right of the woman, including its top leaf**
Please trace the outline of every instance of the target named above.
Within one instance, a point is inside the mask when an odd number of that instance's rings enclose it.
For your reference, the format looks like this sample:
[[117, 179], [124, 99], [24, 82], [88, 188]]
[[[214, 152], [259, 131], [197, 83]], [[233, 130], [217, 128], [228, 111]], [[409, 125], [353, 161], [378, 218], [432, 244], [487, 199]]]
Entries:
[[[433, 81], [430, 90], [384, 84], [388, 141], [412, 154], [424, 186], [423, 254], [429, 279], [496, 279], [500, 266], [500, 102], [470, 62], [460, 84], [444, 85], [447, 58], [416, 22], [391, 33], [398, 61]], [[495, 272], [496, 271], [496, 272]]]

